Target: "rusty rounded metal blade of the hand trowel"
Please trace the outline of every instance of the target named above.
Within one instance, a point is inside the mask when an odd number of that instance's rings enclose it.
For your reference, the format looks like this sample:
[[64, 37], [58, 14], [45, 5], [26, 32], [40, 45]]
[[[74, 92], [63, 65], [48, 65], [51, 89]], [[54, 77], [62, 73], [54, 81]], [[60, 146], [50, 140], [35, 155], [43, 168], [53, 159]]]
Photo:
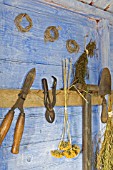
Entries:
[[108, 68], [102, 70], [99, 83], [99, 95], [105, 96], [106, 94], [111, 94], [111, 74]]

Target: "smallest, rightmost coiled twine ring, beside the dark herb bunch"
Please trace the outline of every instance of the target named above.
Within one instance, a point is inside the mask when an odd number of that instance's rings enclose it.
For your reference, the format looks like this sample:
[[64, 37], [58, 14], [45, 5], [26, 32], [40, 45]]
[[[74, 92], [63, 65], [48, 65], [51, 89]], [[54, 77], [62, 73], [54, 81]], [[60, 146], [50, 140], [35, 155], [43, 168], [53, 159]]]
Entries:
[[75, 40], [71, 40], [71, 39], [66, 41], [66, 48], [67, 48], [68, 52], [70, 52], [70, 53], [78, 53], [78, 51], [80, 49], [77, 42]]

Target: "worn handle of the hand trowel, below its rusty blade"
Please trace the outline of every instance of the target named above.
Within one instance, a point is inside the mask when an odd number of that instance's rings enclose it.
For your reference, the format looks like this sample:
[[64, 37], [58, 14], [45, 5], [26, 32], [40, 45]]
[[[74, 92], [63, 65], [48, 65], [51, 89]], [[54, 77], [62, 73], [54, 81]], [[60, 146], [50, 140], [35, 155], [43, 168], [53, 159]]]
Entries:
[[107, 119], [108, 119], [107, 102], [106, 102], [105, 97], [103, 97], [102, 112], [101, 112], [101, 122], [102, 123], [107, 123]]

